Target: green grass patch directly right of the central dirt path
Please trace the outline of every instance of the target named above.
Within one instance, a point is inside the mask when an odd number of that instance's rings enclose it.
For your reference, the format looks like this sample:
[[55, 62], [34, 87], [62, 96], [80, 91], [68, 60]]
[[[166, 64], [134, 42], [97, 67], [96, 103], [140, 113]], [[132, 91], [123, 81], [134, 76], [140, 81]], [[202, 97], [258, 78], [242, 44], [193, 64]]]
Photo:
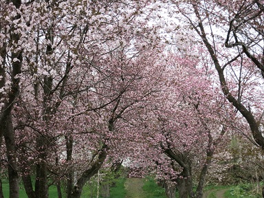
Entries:
[[166, 198], [164, 188], [158, 186], [154, 179], [146, 179], [142, 188], [146, 192], [146, 198]]

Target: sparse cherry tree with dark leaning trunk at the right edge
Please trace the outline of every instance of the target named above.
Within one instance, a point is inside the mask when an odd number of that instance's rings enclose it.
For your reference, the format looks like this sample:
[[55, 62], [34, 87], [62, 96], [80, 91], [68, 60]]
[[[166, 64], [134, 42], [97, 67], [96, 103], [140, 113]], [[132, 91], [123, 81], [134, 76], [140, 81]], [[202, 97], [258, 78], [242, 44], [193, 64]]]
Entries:
[[[261, 1], [190, 1], [175, 5], [175, 17], [186, 20], [210, 54], [221, 89], [248, 122], [254, 142], [264, 148], [261, 122], [263, 96], [260, 87], [262, 34], [259, 27], [263, 9]], [[187, 25], [188, 24], [188, 25]], [[252, 31], [251, 31], [252, 30]], [[225, 35], [225, 36], [223, 36]], [[199, 39], [198, 39], [199, 38]], [[260, 70], [259, 70], [260, 69]], [[257, 102], [258, 101], [258, 102]]]

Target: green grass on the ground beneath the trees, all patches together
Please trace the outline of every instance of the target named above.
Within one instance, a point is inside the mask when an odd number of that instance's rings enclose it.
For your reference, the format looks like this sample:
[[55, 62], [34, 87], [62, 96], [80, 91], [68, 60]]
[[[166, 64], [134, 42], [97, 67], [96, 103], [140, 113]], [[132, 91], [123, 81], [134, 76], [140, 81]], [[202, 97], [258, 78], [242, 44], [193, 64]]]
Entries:
[[[3, 195], [4, 197], [9, 197], [9, 184], [8, 180], [2, 179], [3, 181]], [[126, 197], [126, 189], [124, 188], [124, 183], [126, 178], [120, 178], [116, 181], [116, 185], [110, 188], [110, 198], [124, 198]], [[218, 190], [226, 189], [224, 193], [225, 198], [261, 198], [262, 196], [256, 194], [254, 191], [255, 186], [252, 184], [239, 184], [237, 186], [206, 186], [204, 191], [210, 192], [208, 198], [218, 198], [216, 193]], [[166, 198], [164, 188], [158, 186], [155, 179], [148, 178], [144, 179], [144, 185], [142, 187], [144, 190], [144, 195], [146, 198]], [[92, 191], [91, 191], [92, 190]], [[96, 197], [97, 186], [86, 185], [83, 189], [82, 198], [84, 197]], [[20, 198], [27, 198], [23, 185], [21, 185], [19, 190]], [[49, 197], [58, 197], [56, 186], [50, 186]], [[177, 195], [176, 195], [177, 197]]]

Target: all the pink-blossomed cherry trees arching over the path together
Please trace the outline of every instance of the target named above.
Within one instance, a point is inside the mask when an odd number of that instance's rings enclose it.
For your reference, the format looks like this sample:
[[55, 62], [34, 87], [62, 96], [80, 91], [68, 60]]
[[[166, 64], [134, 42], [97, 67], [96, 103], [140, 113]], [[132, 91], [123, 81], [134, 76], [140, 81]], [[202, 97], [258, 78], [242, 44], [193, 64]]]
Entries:
[[64, 181], [80, 197], [124, 159], [170, 197], [202, 197], [230, 135], [264, 149], [263, 1], [1, 0], [0, 13], [10, 197], [20, 179], [30, 198], [52, 184], [62, 197]]

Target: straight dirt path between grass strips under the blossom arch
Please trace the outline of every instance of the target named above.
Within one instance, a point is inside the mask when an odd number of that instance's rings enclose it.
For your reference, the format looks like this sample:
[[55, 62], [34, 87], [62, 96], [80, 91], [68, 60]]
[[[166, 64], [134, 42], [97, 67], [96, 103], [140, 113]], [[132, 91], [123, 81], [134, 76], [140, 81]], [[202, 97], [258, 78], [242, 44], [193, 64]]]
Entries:
[[127, 178], [124, 183], [124, 188], [127, 190], [126, 198], [144, 198], [143, 184], [141, 178]]

